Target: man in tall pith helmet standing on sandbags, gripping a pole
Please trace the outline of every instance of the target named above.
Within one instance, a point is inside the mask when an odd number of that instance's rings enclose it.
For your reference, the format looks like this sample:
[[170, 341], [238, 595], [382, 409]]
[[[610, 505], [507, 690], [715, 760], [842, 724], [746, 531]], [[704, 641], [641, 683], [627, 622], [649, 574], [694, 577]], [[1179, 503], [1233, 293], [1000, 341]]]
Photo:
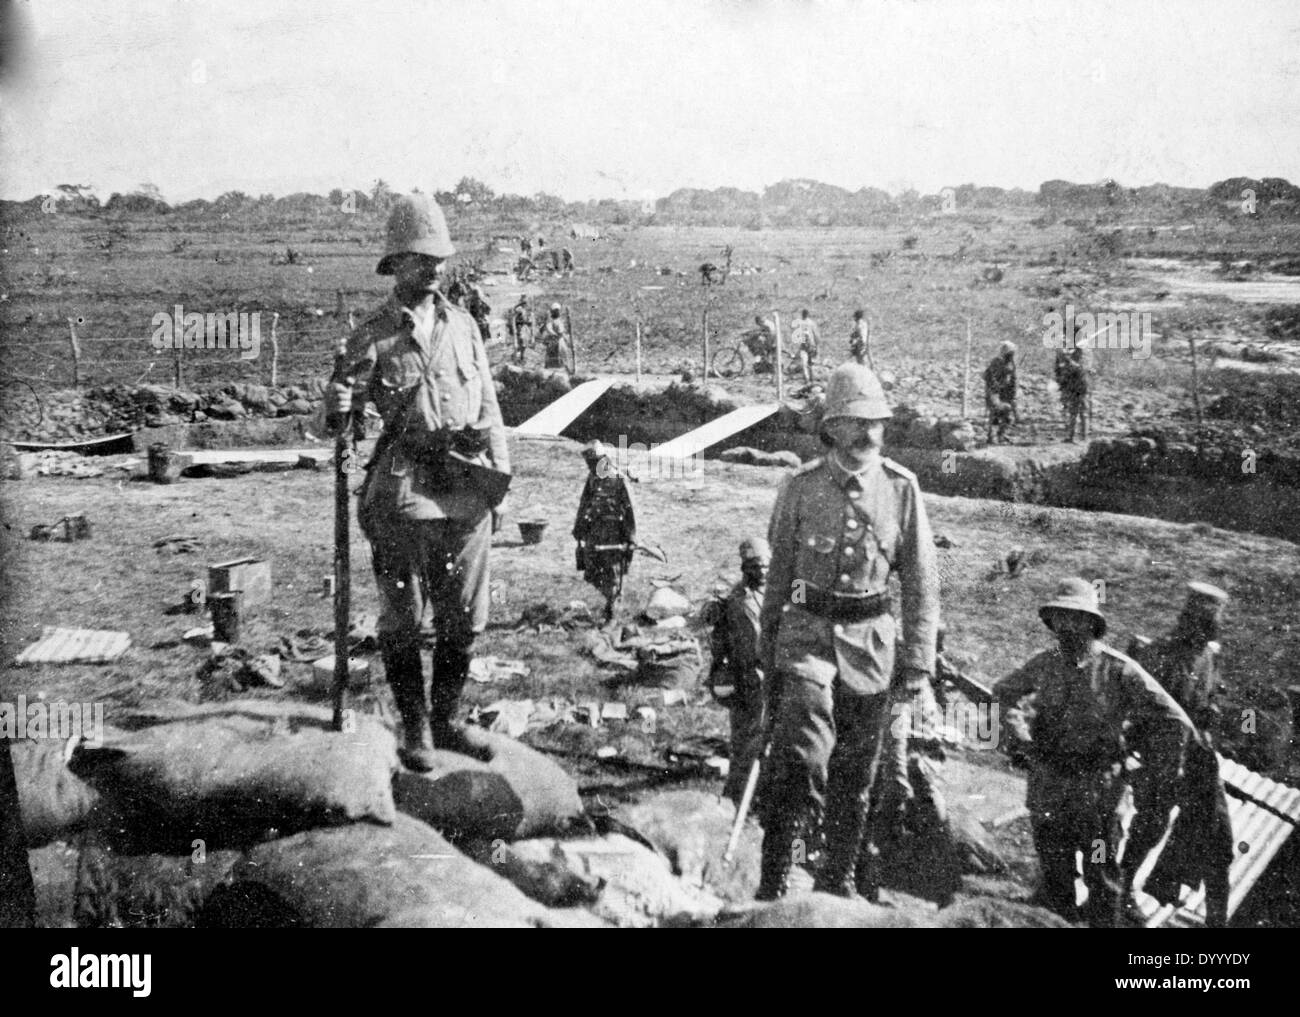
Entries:
[[[458, 744], [451, 720], [488, 624], [488, 548], [508, 484], [506, 429], [473, 319], [438, 291], [455, 254], [442, 209], [426, 195], [399, 199], [377, 272], [394, 276], [402, 321], [350, 347], [347, 380], [326, 391], [334, 433], [374, 402], [384, 433], [367, 464], [358, 519], [370, 541], [380, 594], [378, 642], [402, 715], [403, 762], [433, 767], [433, 748]], [[428, 705], [420, 619], [438, 629]]]

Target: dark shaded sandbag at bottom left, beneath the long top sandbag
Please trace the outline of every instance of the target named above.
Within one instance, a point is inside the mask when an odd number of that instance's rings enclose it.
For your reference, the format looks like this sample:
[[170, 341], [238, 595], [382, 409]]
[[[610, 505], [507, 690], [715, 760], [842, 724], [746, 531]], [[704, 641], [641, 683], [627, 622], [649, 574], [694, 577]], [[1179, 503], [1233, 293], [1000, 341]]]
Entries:
[[238, 851], [121, 854], [90, 844], [81, 852], [73, 917], [79, 929], [190, 929], [240, 858]]

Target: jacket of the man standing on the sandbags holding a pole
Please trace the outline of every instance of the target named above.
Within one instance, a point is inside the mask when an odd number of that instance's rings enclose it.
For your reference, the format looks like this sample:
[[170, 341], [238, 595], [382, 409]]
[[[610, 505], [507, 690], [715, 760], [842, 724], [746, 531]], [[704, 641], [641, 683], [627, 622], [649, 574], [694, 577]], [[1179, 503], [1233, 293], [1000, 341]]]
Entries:
[[[390, 300], [348, 341], [348, 359], [355, 378], [354, 404], [373, 402], [384, 417], [385, 433], [396, 437], [403, 425], [411, 436], [443, 428], [459, 430], [467, 424], [478, 427], [486, 430], [489, 443], [480, 462], [510, 472], [497, 385], [478, 326], [467, 311], [439, 299], [433, 336], [422, 343], [402, 308]], [[420, 390], [408, 401], [416, 386]], [[408, 408], [399, 419], [404, 404]], [[406, 455], [396, 441], [385, 441], [368, 469], [358, 510], [363, 525], [376, 515], [400, 520], [474, 519], [488, 510], [472, 490], [432, 490], [428, 469]]]

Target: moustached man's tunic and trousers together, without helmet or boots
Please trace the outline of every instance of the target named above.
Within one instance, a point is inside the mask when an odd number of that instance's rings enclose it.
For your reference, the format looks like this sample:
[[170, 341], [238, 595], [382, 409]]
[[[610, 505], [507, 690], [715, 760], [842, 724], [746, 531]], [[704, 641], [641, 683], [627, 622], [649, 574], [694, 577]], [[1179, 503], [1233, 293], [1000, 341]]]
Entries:
[[864, 793], [887, 723], [896, 623], [883, 613], [832, 622], [805, 606], [807, 592], [902, 593], [902, 666], [932, 672], [939, 574], [916, 477], [874, 456], [858, 473], [829, 455], [781, 486], [768, 529], [772, 561], [762, 610], [764, 672], [775, 702], [776, 791], [819, 812], [832, 783]]

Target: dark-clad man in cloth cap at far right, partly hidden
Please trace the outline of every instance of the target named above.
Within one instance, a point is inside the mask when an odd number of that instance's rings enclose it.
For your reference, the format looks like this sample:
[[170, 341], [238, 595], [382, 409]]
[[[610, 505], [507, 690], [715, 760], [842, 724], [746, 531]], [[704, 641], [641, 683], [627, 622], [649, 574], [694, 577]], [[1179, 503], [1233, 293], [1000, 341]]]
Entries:
[[[1221, 687], [1217, 640], [1226, 603], [1227, 593], [1218, 587], [1209, 583], [1188, 583], [1187, 602], [1174, 624], [1174, 631], [1154, 641], [1138, 636], [1128, 645], [1128, 655], [1187, 711], [1192, 723], [1200, 728], [1199, 741], [1206, 746], [1213, 746], [1213, 730], [1219, 718], [1219, 706], [1216, 701]], [[1152, 780], [1150, 776], [1143, 767], [1131, 782], [1138, 815], [1128, 828], [1128, 840], [1124, 845], [1124, 874], [1130, 892], [1143, 860], [1165, 835], [1170, 810], [1179, 795], [1188, 789], [1187, 780], [1180, 787]], [[1202, 787], [1200, 791], [1216, 804], [1209, 812], [1226, 813], [1226, 801], [1222, 804], [1217, 801], [1223, 793], [1222, 788], [1216, 792], [1214, 788]], [[1213, 903], [1218, 903], [1218, 895], [1212, 892], [1210, 897], [1214, 899]], [[1226, 897], [1222, 906], [1226, 908]]]

